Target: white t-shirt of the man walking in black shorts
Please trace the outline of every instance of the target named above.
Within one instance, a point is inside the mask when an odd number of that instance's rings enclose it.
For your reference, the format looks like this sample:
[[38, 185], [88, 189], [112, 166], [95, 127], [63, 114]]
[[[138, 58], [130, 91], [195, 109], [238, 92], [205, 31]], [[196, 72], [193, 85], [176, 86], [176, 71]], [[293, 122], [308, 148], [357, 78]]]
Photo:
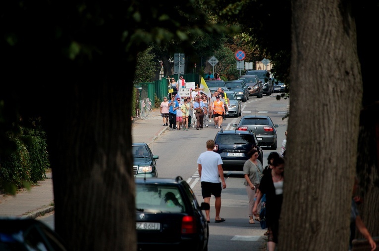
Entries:
[[222, 165], [221, 156], [214, 151], [206, 151], [200, 154], [197, 164], [202, 167], [200, 181], [219, 183], [218, 165]]

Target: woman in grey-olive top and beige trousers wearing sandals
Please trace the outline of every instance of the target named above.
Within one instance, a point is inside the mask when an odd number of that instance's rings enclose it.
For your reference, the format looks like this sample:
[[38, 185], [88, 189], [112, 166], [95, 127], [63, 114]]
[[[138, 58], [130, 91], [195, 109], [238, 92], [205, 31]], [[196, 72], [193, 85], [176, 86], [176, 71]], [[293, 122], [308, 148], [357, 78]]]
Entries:
[[[243, 174], [245, 180], [243, 184], [246, 186], [247, 198], [249, 199], [249, 223], [254, 224], [254, 215], [256, 220], [259, 221], [259, 214], [253, 214], [253, 208], [255, 201], [255, 193], [259, 188], [259, 183], [263, 176], [263, 166], [262, 163], [258, 160], [258, 151], [256, 148], [251, 149], [247, 156], [249, 159], [243, 165]], [[258, 211], [261, 211], [261, 204], [257, 206]], [[257, 216], [258, 215], [258, 216]]]

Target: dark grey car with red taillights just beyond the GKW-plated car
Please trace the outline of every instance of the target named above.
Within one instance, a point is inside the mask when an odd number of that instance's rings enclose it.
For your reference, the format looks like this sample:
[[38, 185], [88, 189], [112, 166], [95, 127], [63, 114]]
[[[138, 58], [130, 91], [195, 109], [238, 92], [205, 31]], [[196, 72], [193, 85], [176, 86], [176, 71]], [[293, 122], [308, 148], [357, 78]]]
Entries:
[[273, 124], [269, 116], [246, 115], [238, 123], [237, 130], [253, 131], [257, 136], [260, 146], [271, 147], [272, 150], [277, 148], [277, 124]]

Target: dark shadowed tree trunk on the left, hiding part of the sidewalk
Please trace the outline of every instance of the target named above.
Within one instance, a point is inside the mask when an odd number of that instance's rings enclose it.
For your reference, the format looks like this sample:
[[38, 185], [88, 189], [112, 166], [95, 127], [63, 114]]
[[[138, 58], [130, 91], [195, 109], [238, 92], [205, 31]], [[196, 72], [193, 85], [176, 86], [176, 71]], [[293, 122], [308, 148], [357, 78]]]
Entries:
[[120, 82], [135, 64], [118, 63], [73, 74], [46, 117], [55, 230], [73, 251], [136, 250], [132, 79]]

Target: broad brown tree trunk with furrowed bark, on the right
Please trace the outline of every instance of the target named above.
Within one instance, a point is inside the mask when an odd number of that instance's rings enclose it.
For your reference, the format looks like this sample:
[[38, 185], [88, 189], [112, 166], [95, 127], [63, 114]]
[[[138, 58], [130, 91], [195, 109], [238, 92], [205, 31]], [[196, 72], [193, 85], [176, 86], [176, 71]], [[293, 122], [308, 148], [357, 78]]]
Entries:
[[347, 250], [362, 78], [348, 2], [292, 0], [280, 250]]

